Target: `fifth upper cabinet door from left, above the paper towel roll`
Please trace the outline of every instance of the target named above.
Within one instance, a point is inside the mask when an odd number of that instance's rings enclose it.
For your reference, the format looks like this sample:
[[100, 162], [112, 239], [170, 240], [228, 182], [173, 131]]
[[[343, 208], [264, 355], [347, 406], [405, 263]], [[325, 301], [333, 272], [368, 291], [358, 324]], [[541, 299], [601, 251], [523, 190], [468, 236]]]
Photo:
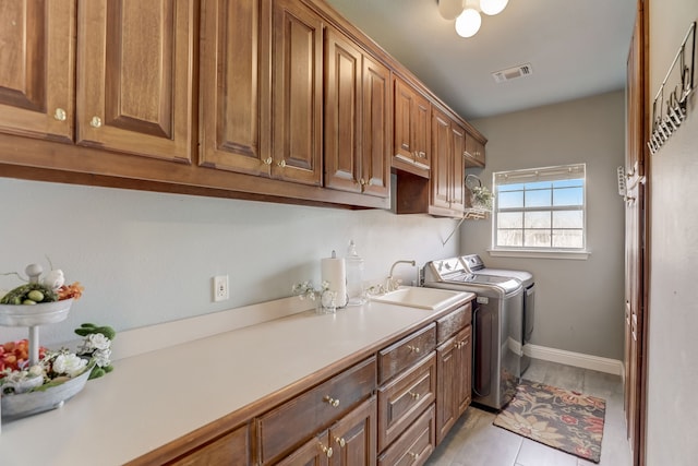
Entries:
[[327, 28], [325, 37], [325, 187], [361, 192], [362, 52]]

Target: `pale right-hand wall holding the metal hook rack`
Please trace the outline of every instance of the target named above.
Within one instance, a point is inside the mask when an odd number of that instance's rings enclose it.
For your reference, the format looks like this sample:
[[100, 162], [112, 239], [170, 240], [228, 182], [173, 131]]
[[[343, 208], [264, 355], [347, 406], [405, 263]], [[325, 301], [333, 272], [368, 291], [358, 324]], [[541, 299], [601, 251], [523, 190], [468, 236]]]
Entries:
[[[653, 98], [688, 31], [696, 0], [650, 2]], [[696, 59], [698, 62], [698, 58]], [[698, 80], [698, 74], [695, 76]], [[698, 457], [698, 98], [688, 118], [650, 158], [650, 309], [647, 464], [693, 465]]]

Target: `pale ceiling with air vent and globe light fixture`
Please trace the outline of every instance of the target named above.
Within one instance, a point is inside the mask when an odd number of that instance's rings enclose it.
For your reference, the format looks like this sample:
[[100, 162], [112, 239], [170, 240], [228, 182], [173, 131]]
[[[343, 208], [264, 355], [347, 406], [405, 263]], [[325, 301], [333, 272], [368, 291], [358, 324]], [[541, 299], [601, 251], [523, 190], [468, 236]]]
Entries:
[[[509, 0], [459, 37], [437, 0], [326, 0], [466, 119], [622, 89], [636, 0]], [[530, 63], [496, 84], [492, 72]]]

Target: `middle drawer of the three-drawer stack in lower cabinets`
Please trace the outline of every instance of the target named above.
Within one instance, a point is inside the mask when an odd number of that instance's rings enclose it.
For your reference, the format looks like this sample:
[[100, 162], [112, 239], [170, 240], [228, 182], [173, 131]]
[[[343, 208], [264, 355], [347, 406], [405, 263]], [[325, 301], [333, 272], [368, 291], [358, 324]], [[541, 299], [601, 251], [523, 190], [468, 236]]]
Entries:
[[436, 354], [432, 354], [384, 387], [378, 389], [378, 451], [383, 451], [434, 403]]

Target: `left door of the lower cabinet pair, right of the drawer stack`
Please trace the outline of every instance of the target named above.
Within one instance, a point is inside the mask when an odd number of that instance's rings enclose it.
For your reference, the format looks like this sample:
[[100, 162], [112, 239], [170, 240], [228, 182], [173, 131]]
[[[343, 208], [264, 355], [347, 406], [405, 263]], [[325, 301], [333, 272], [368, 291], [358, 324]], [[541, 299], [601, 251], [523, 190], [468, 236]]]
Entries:
[[436, 444], [446, 437], [458, 419], [458, 378], [460, 368], [456, 337], [436, 349]]

